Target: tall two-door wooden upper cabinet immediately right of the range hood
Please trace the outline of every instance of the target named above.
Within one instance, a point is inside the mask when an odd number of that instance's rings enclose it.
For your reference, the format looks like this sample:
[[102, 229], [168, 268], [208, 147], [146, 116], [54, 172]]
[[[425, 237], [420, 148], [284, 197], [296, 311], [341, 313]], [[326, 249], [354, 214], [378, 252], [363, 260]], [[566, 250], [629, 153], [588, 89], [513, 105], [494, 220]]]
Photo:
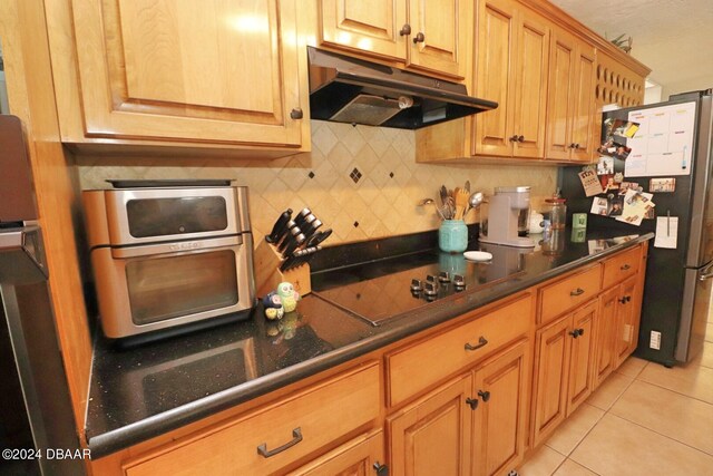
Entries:
[[514, 0], [488, 0], [478, 11], [476, 96], [498, 108], [475, 119], [473, 155], [541, 158], [549, 27]]

